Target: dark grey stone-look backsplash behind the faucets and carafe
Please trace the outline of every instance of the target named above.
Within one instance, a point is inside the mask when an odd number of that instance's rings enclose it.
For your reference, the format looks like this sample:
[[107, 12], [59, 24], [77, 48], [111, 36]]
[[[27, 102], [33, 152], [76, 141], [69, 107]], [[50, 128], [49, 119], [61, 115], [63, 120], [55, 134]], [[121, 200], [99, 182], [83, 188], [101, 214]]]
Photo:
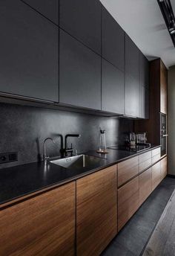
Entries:
[[125, 134], [133, 131], [133, 121], [125, 118], [104, 118], [6, 103], [0, 104], [0, 120], [0, 153], [19, 153], [19, 161], [0, 164], [0, 169], [39, 161], [46, 137], [56, 141], [56, 144], [47, 141], [47, 153], [59, 156], [59, 134], [81, 134], [81, 138], [69, 138], [68, 142], [73, 144], [78, 153], [82, 153], [99, 147], [100, 127], [106, 130], [107, 146], [122, 144]]

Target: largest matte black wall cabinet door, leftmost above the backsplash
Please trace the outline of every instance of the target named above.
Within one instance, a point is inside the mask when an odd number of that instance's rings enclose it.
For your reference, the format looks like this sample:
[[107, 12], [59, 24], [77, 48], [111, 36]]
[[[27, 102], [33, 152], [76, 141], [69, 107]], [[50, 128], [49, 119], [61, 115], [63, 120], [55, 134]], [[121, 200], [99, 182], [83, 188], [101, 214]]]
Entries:
[[0, 1], [0, 92], [58, 101], [56, 25], [22, 1]]

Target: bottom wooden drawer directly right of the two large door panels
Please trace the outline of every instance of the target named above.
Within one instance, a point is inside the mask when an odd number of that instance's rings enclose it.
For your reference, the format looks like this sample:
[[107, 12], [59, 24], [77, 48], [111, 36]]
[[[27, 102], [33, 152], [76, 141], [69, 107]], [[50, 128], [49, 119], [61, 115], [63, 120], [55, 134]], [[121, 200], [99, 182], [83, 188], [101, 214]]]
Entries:
[[139, 208], [139, 176], [118, 190], [118, 231]]

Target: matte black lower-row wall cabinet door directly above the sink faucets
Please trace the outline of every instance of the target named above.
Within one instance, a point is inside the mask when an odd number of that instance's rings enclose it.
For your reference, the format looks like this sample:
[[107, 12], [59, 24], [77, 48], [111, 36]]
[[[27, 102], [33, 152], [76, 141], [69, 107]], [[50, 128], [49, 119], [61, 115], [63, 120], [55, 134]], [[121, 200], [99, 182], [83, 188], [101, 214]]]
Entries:
[[60, 29], [59, 102], [101, 109], [101, 57]]

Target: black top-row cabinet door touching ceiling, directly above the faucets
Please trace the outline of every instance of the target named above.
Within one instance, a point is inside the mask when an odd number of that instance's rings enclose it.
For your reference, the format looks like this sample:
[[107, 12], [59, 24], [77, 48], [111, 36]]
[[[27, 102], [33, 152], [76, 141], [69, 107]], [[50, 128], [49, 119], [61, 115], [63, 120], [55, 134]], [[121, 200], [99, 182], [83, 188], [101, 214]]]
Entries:
[[101, 3], [99, 0], [59, 0], [59, 25], [101, 54]]

